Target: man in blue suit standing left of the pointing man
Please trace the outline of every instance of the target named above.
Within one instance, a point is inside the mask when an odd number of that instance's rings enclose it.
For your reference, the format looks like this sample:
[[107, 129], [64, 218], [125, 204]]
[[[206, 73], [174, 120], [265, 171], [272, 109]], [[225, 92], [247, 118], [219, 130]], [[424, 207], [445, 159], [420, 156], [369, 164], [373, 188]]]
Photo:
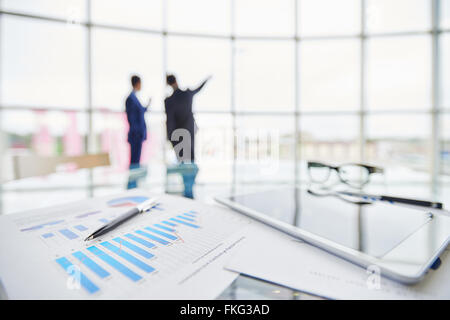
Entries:
[[125, 106], [127, 112], [128, 124], [128, 143], [131, 147], [130, 168], [139, 167], [141, 160], [142, 143], [147, 139], [147, 125], [145, 124], [144, 114], [150, 105], [149, 100], [147, 107], [143, 107], [136, 97], [136, 92], [141, 90], [141, 79], [138, 76], [131, 77], [131, 85], [133, 91], [128, 96]]

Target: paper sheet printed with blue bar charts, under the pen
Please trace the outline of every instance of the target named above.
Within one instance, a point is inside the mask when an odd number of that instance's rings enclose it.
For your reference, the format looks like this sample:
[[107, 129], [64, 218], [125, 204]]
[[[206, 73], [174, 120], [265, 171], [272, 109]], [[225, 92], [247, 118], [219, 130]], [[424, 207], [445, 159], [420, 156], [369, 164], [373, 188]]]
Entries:
[[250, 219], [164, 195], [149, 212], [86, 236], [151, 195], [115, 197], [0, 217], [0, 279], [12, 299], [211, 299], [237, 274], [225, 259]]

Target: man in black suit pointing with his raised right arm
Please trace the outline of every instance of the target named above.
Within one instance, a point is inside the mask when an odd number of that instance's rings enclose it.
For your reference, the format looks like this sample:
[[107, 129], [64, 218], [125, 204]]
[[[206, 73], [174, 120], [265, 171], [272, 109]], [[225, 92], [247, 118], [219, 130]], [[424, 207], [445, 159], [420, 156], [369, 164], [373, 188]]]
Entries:
[[190, 159], [185, 159], [182, 151], [180, 153], [176, 152], [179, 161], [188, 160], [190, 162], [194, 162], [195, 160], [194, 136], [196, 132], [196, 124], [194, 114], [192, 113], [192, 100], [195, 94], [203, 88], [208, 80], [209, 78], [203, 81], [197, 89], [181, 90], [178, 87], [177, 79], [174, 75], [168, 75], [166, 78], [167, 85], [171, 86], [173, 89], [172, 95], [164, 100], [167, 116], [167, 139], [172, 143], [172, 146], [175, 147], [175, 145], [178, 144], [178, 141], [172, 141], [171, 136], [176, 129], [186, 129], [191, 136]]

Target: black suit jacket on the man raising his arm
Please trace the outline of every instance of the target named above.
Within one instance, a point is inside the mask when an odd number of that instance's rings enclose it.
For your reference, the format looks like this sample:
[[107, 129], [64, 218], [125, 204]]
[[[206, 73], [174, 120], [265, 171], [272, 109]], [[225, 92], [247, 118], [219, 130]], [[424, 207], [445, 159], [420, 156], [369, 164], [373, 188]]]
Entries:
[[199, 92], [206, 81], [204, 81], [197, 89], [181, 90], [177, 89], [173, 94], [164, 100], [166, 109], [166, 129], [167, 139], [170, 140], [172, 132], [175, 129], [187, 129], [191, 138], [195, 134], [195, 120], [192, 113], [192, 101], [197, 92]]

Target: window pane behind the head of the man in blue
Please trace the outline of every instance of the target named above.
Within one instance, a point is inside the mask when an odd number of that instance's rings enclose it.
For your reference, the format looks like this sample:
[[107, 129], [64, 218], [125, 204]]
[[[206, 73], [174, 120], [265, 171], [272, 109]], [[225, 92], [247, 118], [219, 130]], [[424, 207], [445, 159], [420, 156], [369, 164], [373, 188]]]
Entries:
[[93, 29], [92, 99], [95, 108], [125, 110], [131, 92], [131, 76], [142, 79], [138, 98], [150, 109], [162, 109], [165, 75], [162, 67], [161, 36]]

